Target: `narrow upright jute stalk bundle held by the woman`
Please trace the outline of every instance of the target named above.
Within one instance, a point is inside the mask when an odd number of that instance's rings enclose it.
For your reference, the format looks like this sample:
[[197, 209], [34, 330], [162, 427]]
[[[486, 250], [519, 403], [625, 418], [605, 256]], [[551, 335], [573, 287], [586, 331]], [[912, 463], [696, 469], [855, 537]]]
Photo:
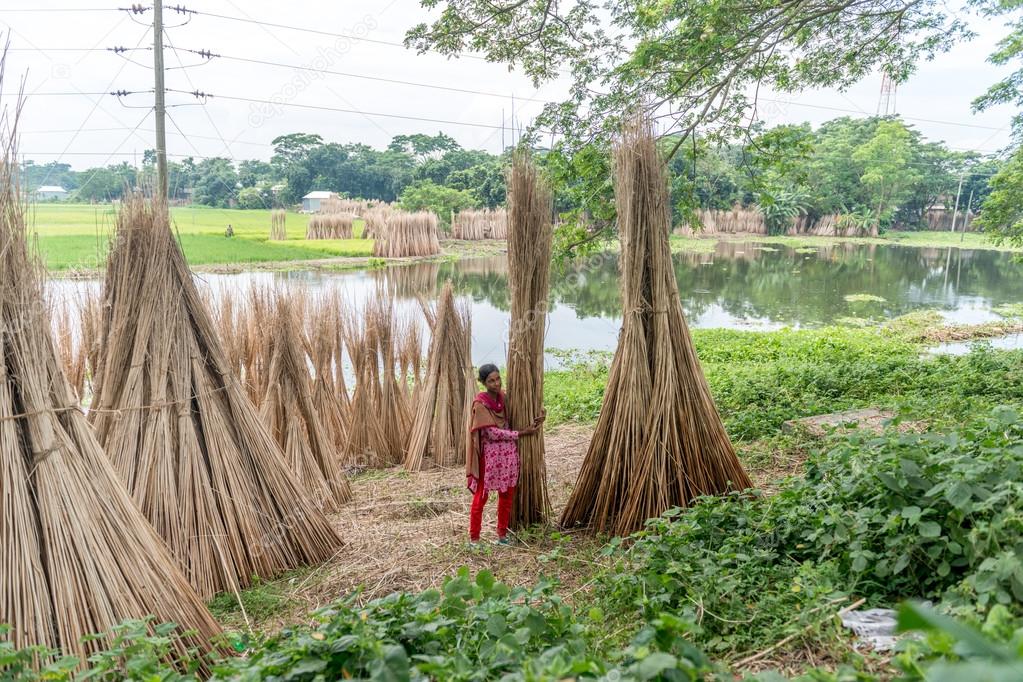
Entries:
[[[507, 410], [510, 428], [529, 426], [543, 409], [543, 337], [550, 282], [553, 201], [550, 188], [524, 153], [508, 172]], [[519, 441], [519, 489], [511, 508], [514, 529], [543, 524], [550, 513], [543, 433]]]

